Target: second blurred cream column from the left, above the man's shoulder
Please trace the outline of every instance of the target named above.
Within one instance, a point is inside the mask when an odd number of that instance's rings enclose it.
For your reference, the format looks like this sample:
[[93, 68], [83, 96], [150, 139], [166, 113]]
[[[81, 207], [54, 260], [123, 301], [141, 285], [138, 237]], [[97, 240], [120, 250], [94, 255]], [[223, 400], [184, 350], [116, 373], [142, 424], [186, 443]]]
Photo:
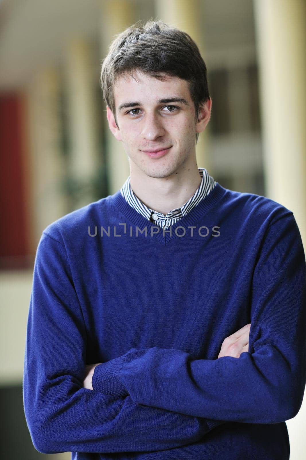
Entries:
[[93, 201], [93, 183], [99, 164], [95, 85], [99, 66], [94, 45], [76, 39], [66, 49], [67, 122], [69, 132], [69, 176], [79, 190], [73, 199], [78, 208]]

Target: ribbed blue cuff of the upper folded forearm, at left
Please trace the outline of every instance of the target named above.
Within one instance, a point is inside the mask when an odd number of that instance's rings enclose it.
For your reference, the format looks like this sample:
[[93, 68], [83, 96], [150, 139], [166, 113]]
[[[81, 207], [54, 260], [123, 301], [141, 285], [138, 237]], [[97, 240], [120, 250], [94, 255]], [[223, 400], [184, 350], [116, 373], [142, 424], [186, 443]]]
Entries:
[[102, 364], [95, 367], [94, 375], [91, 379], [94, 391], [117, 397], [128, 396], [128, 391], [118, 379], [124, 359], [125, 355], [102, 362]]

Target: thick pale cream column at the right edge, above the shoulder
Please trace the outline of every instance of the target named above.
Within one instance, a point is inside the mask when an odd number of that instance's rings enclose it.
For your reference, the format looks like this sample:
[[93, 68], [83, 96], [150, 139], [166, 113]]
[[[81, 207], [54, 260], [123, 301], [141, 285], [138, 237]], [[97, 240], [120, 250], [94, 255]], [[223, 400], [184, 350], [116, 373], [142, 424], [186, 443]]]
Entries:
[[268, 197], [295, 214], [306, 247], [306, 4], [255, 0]]

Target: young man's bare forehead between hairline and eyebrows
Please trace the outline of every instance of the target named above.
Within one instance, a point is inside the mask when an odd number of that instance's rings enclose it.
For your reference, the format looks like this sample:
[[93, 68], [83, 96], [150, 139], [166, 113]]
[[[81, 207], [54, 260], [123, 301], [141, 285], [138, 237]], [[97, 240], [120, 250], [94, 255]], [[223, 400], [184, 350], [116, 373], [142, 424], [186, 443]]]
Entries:
[[113, 86], [115, 106], [118, 107], [125, 99], [153, 102], [161, 98], [177, 97], [190, 101], [189, 86], [186, 80], [166, 74], [159, 75], [163, 77], [163, 80], [139, 70], [134, 70], [133, 75], [128, 72], [120, 75]]

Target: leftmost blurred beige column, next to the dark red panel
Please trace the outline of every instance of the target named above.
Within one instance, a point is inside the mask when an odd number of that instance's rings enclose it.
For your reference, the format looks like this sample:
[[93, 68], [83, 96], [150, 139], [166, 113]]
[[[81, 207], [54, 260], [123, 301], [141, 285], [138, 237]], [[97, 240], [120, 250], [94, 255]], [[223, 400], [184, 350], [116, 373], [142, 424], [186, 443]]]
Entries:
[[45, 227], [67, 213], [61, 190], [65, 164], [61, 151], [60, 86], [58, 71], [48, 68], [35, 75], [27, 93], [35, 247]]

